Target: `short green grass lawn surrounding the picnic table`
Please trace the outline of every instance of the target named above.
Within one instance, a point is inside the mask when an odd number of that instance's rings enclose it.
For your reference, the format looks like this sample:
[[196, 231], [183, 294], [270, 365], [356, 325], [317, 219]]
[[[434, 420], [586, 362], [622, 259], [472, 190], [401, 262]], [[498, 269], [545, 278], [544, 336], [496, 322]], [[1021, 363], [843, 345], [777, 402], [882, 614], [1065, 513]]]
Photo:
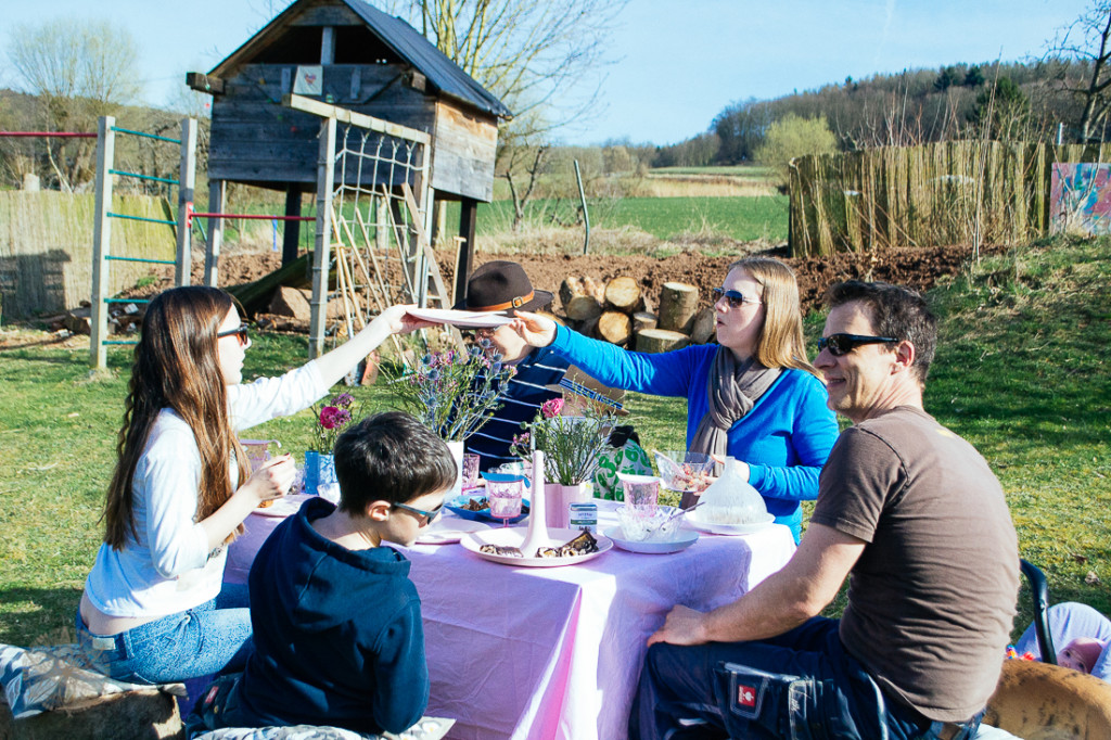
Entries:
[[[1053, 600], [1111, 612], [1097, 580], [1111, 578], [1111, 241], [1023, 248], [932, 298], [944, 322], [927, 410], [991, 463], [1022, 554], [1047, 571]], [[808, 334], [820, 327], [811, 317]], [[306, 348], [262, 334], [244, 376], [290, 367]], [[0, 642], [58, 641], [71, 624], [100, 541], [127, 387], [128, 352], [109, 357], [110, 371], [90, 377], [87, 350], [0, 351]], [[391, 403], [379, 387], [354, 392], [368, 411]], [[682, 400], [633, 396], [630, 410], [648, 449], [683, 443]], [[302, 412], [250, 436], [300, 456], [310, 424]], [[1030, 619], [1022, 603], [1019, 629]]]

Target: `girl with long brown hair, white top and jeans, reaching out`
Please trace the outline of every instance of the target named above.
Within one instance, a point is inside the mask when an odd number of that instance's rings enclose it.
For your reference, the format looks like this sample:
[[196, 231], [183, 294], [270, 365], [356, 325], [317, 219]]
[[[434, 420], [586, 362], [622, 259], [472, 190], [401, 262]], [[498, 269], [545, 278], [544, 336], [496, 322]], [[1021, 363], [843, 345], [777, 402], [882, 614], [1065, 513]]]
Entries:
[[222, 587], [226, 546], [293, 482], [288, 454], [253, 473], [236, 434], [323, 397], [391, 333], [427, 326], [404, 307], [279, 378], [241, 383], [251, 344], [231, 297], [204, 287], [154, 298], [136, 347], [104, 542], [86, 581], [78, 640], [104, 673], [164, 683], [242, 668], [244, 587]]

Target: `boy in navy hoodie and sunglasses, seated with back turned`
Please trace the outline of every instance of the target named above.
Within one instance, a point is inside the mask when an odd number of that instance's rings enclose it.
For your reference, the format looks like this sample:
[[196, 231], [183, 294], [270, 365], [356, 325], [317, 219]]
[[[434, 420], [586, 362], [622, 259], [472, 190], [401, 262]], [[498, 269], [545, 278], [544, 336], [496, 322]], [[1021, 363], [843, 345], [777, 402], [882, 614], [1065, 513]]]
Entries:
[[420, 598], [409, 561], [381, 546], [412, 544], [436, 519], [456, 463], [443, 440], [397, 411], [350, 427], [334, 454], [339, 506], [306, 501], [259, 549], [248, 579], [254, 652], [198, 703], [190, 731], [401, 732], [424, 712]]

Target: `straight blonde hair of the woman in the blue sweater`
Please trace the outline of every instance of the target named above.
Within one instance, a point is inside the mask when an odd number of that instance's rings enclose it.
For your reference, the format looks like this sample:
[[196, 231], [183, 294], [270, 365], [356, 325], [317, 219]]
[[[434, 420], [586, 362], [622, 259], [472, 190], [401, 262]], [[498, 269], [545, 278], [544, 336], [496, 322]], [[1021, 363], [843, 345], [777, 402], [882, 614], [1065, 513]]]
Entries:
[[771, 257], [745, 257], [729, 266], [744, 270], [763, 289], [764, 322], [757, 338], [757, 361], [765, 368], [795, 368], [821, 378], [807, 358], [802, 339], [799, 283], [784, 262]]

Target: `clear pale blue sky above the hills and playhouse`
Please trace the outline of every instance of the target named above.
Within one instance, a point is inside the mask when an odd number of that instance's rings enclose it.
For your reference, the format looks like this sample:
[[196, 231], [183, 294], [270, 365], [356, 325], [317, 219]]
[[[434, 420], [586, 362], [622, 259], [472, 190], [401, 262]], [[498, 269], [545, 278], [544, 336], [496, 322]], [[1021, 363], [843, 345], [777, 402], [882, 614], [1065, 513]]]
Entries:
[[[373, 1], [373, 0], [371, 0]], [[171, 100], [184, 72], [231, 53], [284, 0], [0, 0], [0, 87], [14, 87], [16, 23], [100, 18], [141, 44], [147, 99]], [[732, 101], [774, 98], [847, 76], [1040, 56], [1084, 0], [630, 0], [618, 18], [602, 107], [564, 134], [592, 143], [671, 143]]]

